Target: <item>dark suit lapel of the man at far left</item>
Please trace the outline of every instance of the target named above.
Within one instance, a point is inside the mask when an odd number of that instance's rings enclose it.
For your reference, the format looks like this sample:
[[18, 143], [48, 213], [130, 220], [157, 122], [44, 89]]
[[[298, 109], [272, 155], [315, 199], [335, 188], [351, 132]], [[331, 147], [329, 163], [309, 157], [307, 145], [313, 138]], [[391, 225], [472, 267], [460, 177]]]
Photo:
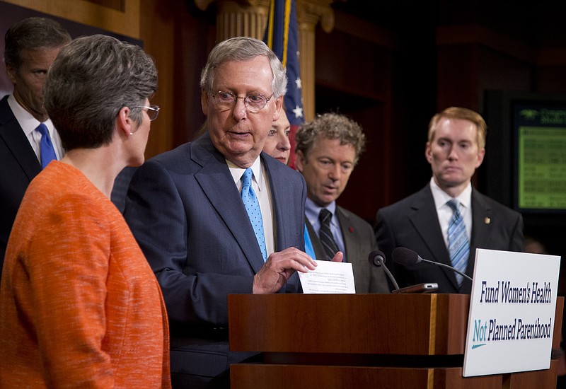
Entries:
[[6, 118], [6, 120], [0, 122], [0, 139], [6, 143], [25, 175], [31, 181], [40, 173], [41, 164], [8, 105], [8, 96], [0, 101], [0, 117]]

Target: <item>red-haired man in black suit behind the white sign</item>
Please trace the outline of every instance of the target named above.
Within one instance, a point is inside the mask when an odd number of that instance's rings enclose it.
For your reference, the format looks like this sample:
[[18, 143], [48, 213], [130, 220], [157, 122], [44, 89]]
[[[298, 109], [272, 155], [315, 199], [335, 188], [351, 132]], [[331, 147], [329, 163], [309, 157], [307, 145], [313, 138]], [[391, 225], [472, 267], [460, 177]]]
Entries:
[[[481, 194], [471, 178], [485, 156], [487, 124], [477, 112], [466, 108], [446, 108], [429, 123], [425, 156], [432, 178], [422, 190], [388, 207], [376, 216], [376, 239], [388, 257], [397, 247], [409, 248], [420, 257], [452, 267], [473, 277], [475, 249], [522, 251], [521, 214]], [[449, 202], [455, 201], [458, 214]], [[453, 206], [454, 207], [454, 206]], [[451, 260], [450, 247], [456, 245], [451, 228], [453, 218], [462, 219], [464, 261]], [[466, 262], [467, 261], [467, 262]], [[471, 292], [468, 279], [458, 280], [450, 269], [427, 263], [400, 265], [388, 262], [400, 287], [436, 282], [439, 293]], [[460, 265], [461, 263], [461, 265]]]

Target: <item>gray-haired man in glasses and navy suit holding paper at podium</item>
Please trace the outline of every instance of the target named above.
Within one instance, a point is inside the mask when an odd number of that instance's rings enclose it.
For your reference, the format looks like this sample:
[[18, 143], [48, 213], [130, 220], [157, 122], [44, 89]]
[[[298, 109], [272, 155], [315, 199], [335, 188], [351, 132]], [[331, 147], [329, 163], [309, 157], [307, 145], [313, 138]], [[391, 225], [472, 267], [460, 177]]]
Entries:
[[[299, 291], [296, 271], [316, 262], [303, 252], [305, 182], [262, 153], [287, 88], [281, 62], [234, 37], [210, 52], [200, 83], [208, 131], [137, 168], [125, 218], [163, 290], [173, 386], [227, 388], [229, 364], [250, 356], [229, 352], [227, 296]], [[248, 169], [257, 230], [240, 194]]]

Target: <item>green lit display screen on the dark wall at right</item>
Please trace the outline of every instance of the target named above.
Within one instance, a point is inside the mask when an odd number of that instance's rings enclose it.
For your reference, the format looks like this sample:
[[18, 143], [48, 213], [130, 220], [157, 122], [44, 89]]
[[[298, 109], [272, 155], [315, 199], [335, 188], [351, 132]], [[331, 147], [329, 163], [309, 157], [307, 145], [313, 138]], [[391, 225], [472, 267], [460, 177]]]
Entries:
[[566, 210], [566, 109], [516, 108], [516, 204]]

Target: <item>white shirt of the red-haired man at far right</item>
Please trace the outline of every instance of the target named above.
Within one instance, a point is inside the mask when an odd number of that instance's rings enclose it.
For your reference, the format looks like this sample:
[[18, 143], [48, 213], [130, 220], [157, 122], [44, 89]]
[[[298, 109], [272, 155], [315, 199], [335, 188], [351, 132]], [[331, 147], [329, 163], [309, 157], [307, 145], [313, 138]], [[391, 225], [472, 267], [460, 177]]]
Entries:
[[[440, 228], [442, 230], [442, 236], [444, 236], [444, 243], [448, 246], [448, 224], [452, 214], [454, 213], [446, 202], [453, 199], [450, 195], [434, 182], [434, 178], [430, 179], [430, 190], [432, 192], [432, 198], [434, 199], [434, 207], [437, 209], [438, 221], [440, 223]], [[468, 182], [466, 187], [461, 194], [456, 197], [458, 203], [460, 204], [460, 213], [464, 218], [464, 223], [466, 224], [466, 234], [468, 235], [468, 241], [472, 241], [472, 184]]]

